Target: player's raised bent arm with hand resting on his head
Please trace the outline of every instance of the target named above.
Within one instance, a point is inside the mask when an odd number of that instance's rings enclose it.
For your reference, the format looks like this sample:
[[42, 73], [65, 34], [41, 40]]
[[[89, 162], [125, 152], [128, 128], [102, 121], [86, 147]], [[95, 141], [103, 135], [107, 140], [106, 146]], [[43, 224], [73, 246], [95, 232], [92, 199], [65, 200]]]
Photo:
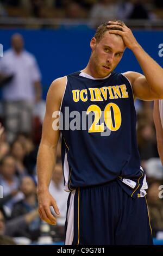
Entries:
[[144, 75], [131, 71], [124, 74], [132, 84], [134, 97], [141, 100], [163, 99], [163, 69], [143, 50], [126, 25], [119, 22], [109, 22], [108, 27], [113, 28], [115, 26], [121, 28], [122, 31], [111, 30], [109, 33], [122, 36], [124, 44], [133, 51], [143, 70]]

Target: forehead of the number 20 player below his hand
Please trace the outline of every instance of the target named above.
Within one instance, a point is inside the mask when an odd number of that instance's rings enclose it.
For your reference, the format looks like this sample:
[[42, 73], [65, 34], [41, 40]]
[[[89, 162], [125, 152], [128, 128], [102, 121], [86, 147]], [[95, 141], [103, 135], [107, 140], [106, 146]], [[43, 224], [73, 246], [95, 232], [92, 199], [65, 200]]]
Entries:
[[123, 52], [126, 46], [124, 45], [123, 39], [121, 36], [110, 34], [109, 31], [106, 31], [99, 41], [101, 46], [108, 46], [112, 48], [113, 51]]

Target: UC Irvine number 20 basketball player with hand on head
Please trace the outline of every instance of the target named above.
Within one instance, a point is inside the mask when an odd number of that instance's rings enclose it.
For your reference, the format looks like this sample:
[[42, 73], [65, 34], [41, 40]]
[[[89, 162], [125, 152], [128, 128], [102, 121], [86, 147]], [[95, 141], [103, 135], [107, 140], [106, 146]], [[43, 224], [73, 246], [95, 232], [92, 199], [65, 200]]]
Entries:
[[[136, 142], [134, 99], [163, 98], [163, 70], [120, 21], [99, 26], [90, 41], [86, 68], [52, 82], [47, 94], [37, 174], [39, 213], [56, 223], [59, 209], [48, 192], [59, 130], [54, 111], [94, 113], [86, 130], [62, 129], [65, 190], [70, 192], [65, 223], [66, 245], [152, 245], [146, 204], [146, 176]], [[128, 47], [144, 75], [114, 71]], [[126, 60], [127, 61], [127, 60]], [[80, 120], [82, 122], [82, 118]], [[103, 136], [109, 130], [109, 136]]]

